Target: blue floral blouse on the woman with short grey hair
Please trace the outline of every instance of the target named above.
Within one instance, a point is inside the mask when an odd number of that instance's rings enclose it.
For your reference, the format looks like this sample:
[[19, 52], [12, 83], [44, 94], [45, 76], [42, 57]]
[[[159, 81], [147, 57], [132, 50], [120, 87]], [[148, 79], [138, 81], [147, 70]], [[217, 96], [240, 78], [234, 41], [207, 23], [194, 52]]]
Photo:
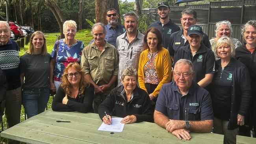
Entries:
[[80, 63], [82, 50], [84, 47], [83, 42], [77, 40], [77, 42], [75, 44], [72, 44], [71, 47], [69, 48], [69, 46], [65, 42], [63, 42], [63, 40], [64, 39], [59, 40], [57, 58], [55, 57], [57, 41], [54, 44], [52, 54], [51, 54], [51, 58], [56, 58], [56, 64], [54, 68], [54, 78], [53, 78], [55, 81], [61, 80], [61, 75], [63, 74], [63, 70], [69, 63], [74, 63], [74, 62]]

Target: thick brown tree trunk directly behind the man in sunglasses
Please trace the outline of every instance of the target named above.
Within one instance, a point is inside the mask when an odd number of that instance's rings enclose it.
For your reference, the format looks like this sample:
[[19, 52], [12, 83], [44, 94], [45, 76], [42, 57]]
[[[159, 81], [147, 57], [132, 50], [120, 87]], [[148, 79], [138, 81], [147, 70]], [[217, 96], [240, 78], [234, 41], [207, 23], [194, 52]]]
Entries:
[[109, 8], [114, 8], [119, 13], [118, 0], [95, 0], [96, 22], [108, 24], [106, 15]]

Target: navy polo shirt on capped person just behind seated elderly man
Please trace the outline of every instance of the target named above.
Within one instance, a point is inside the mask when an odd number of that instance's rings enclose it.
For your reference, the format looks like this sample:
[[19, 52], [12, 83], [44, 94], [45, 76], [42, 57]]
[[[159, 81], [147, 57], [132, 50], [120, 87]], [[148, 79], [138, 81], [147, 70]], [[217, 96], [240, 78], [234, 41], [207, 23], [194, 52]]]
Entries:
[[215, 73], [215, 57], [211, 49], [206, 48], [204, 44], [201, 46], [197, 53], [193, 56], [190, 51], [189, 45], [182, 46], [175, 54], [174, 63], [179, 59], [188, 59], [193, 63], [195, 76], [193, 81], [198, 83], [201, 79], [205, 77], [205, 74]]

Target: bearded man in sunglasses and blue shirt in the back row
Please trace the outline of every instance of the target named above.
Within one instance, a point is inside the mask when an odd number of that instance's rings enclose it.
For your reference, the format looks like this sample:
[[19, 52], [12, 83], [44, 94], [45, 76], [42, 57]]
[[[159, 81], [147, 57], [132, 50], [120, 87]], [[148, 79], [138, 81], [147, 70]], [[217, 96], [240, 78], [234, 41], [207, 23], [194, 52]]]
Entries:
[[[122, 35], [126, 30], [123, 25], [118, 23], [119, 14], [117, 10], [110, 8], [107, 10], [106, 18], [108, 20], [108, 24], [105, 26], [106, 36], [105, 41], [116, 46], [117, 37]], [[94, 39], [90, 42], [93, 43]]]

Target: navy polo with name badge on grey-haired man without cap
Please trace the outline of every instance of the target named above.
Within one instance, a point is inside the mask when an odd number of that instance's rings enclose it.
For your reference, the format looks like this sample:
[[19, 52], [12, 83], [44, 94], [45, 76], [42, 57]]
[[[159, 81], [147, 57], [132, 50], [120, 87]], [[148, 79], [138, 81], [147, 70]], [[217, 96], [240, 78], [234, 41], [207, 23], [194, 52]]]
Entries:
[[[176, 31], [175, 33], [171, 34], [168, 44], [168, 50], [169, 54], [171, 56], [174, 56], [176, 52], [180, 49], [182, 46], [189, 45], [189, 42], [186, 41], [181, 37], [183, 35], [183, 30]], [[209, 41], [208, 35], [204, 33], [202, 43], [207, 47], [211, 49], [211, 43]]]

